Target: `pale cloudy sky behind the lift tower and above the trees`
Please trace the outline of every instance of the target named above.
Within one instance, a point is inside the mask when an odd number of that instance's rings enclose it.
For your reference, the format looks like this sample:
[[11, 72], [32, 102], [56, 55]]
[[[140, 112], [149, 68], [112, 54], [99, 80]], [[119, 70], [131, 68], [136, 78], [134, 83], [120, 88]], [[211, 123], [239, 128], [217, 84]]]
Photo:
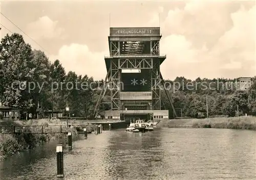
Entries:
[[[254, 1], [5, 1], [1, 12], [67, 71], [106, 75], [111, 27], [161, 27], [164, 79], [256, 75]], [[160, 16], [159, 16], [160, 14]], [[20, 32], [1, 15], [11, 32]], [[1, 37], [8, 31], [2, 27]], [[24, 34], [23, 34], [24, 35]], [[41, 49], [24, 35], [33, 48]]]

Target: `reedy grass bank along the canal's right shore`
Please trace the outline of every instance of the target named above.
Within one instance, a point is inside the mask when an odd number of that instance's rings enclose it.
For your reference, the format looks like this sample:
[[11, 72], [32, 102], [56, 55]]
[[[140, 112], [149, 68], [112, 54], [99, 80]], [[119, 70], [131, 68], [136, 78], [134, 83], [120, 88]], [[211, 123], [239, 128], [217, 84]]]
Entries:
[[230, 128], [256, 131], [256, 117], [216, 117], [207, 119], [177, 119], [165, 122], [166, 126], [192, 126], [194, 128]]

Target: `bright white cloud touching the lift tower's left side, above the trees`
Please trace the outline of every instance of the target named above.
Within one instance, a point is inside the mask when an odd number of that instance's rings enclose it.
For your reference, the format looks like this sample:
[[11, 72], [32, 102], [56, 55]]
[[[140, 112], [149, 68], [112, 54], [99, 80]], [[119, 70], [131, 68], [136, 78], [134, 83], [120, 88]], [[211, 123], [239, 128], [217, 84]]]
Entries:
[[93, 53], [85, 44], [63, 45], [57, 55], [51, 56], [52, 61], [58, 59], [68, 71], [75, 71], [78, 75], [93, 76], [95, 80], [104, 79], [106, 67], [104, 56], [109, 52]]

